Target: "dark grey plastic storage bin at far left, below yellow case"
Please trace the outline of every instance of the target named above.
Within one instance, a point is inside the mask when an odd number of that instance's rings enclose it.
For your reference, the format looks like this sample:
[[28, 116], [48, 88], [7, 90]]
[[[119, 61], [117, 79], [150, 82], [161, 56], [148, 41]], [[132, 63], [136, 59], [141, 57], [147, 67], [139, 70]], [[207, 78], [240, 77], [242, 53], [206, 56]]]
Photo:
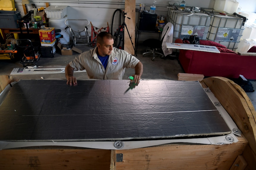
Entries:
[[2, 28], [19, 28], [17, 20], [20, 20], [20, 11], [0, 10], [0, 25]]

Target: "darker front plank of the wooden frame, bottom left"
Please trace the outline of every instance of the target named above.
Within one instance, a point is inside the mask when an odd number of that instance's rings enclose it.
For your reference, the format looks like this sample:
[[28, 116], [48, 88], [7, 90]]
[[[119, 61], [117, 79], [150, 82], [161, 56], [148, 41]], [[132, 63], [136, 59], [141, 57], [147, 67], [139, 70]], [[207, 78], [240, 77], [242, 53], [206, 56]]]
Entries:
[[86, 148], [39, 148], [0, 150], [0, 169], [109, 170], [110, 150]]

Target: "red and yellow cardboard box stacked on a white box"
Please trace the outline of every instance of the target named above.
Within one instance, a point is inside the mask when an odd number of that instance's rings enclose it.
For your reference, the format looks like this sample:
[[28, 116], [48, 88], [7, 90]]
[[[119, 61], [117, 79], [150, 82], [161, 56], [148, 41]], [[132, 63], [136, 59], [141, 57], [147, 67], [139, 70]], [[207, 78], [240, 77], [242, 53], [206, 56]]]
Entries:
[[41, 43], [53, 43], [56, 40], [54, 27], [42, 28], [39, 30]]

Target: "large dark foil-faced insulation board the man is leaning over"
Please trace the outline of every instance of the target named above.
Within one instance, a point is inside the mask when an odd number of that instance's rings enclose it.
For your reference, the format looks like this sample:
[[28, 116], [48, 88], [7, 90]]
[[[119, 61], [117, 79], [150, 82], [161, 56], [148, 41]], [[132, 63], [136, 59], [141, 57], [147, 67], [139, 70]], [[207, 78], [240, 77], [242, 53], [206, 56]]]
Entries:
[[230, 133], [199, 82], [20, 80], [0, 106], [2, 141], [144, 140]]

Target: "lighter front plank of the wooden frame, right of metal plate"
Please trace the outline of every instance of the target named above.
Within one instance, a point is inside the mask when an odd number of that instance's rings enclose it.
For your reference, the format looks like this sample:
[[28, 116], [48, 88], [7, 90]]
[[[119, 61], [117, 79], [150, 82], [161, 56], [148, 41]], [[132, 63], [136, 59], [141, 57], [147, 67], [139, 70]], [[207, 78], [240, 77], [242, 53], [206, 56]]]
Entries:
[[116, 162], [116, 169], [227, 170], [246, 145], [245, 138], [238, 137], [237, 143], [227, 145], [172, 144], [116, 150], [123, 153], [123, 162]]

